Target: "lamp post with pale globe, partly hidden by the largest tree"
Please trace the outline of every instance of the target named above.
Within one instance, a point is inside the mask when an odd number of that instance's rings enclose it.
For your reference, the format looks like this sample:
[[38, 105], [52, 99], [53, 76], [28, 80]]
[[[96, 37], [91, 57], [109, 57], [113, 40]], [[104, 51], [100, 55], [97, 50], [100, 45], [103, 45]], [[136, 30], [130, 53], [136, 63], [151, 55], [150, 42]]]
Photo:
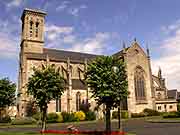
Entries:
[[[119, 68], [117, 66], [113, 66], [114, 73], [117, 73]], [[119, 106], [118, 106], [118, 128], [120, 131], [122, 131], [121, 127], [121, 99], [120, 99], [120, 92], [119, 92]]]

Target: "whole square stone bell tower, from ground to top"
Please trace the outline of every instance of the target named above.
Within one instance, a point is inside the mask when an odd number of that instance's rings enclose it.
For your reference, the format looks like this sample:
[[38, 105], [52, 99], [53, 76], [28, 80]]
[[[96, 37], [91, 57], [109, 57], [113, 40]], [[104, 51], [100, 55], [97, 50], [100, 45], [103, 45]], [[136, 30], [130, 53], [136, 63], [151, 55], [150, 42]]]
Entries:
[[34, 9], [24, 9], [22, 21], [22, 33], [19, 55], [19, 79], [17, 109], [19, 116], [26, 116], [28, 95], [26, 84], [28, 82], [28, 53], [43, 53], [44, 46], [44, 22], [46, 13]]

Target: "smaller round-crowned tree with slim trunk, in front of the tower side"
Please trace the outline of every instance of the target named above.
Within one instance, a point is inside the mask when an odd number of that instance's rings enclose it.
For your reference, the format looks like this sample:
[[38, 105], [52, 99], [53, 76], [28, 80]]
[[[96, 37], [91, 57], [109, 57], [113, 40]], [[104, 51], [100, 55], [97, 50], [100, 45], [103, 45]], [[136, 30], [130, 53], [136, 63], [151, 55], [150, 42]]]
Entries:
[[42, 131], [46, 130], [47, 108], [51, 100], [59, 98], [65, 89], [65, 80], [54, 65], [42, 65], [34, 68], [34, 74], [29, 78], [28, 94], [32, 95], [41, 111]]

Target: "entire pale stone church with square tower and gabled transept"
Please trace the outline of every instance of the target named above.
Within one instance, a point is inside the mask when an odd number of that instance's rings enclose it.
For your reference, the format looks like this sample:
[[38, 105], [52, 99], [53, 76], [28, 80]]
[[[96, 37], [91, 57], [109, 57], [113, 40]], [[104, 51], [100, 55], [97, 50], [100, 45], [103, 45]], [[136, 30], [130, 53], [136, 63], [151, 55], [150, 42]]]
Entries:
[[[67, 79], [67, 88], [60, 99], [51, 101], [48, 112], [74, 112], [80, 110], [80, 104], [88, 101], [91, 109], [96, 102], [90, 98], [91, 91], [84, 84], [84, 72], [90, 60], [98, 55], [70, 52], [44, 48], [44, 27], [46, 13], [34, 9], [23, 11], [22, 34], [20, 44], [18, 112], [26, 115], [26, 105], [30, 100], [27, 95], [26, 84], [33, 74], [32, 68], [42, 64], [54, 64], [60, 67], [61, 74]], [[135, 40], [130, 47], [123, 49], [113, 56], [124, 59], [127, 66], [129, 96], [123, 102], [123, 109], [129, 113], [139, 113], [145, 108], [158, 111], [174, 111], [177, 109], [176, 100], [167, 98], [165, 79], [161, 70], [158, 76], [152, 75], [149, 50], [146, 52]]]

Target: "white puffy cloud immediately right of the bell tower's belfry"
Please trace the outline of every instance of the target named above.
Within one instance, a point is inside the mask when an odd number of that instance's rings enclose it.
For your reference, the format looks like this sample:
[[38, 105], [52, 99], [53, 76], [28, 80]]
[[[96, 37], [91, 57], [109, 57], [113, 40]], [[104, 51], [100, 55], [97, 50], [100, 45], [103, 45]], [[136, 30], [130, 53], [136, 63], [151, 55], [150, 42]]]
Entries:
[[73, 27], [63, 27], [54, 24], [47, 25], [45, 28], [48, 40], [55, 40], [61, 35], [69, 35], [73, 32]]

